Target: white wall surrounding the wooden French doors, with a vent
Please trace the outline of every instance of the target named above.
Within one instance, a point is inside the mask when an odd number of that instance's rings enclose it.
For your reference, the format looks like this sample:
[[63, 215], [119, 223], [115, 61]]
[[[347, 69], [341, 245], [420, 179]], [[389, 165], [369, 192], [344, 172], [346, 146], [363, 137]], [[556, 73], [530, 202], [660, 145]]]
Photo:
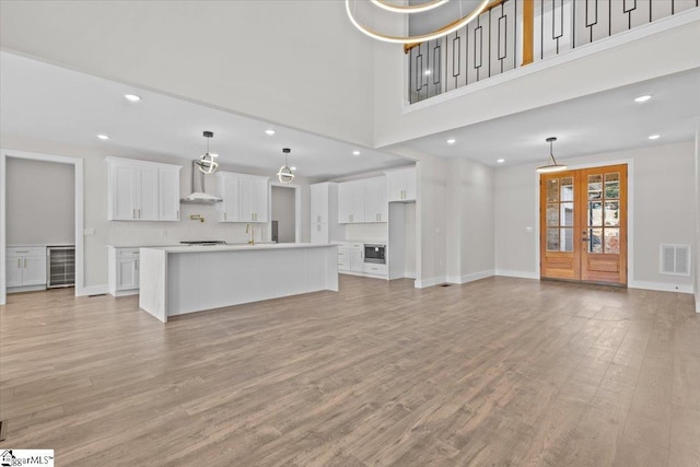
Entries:
[[[570, 167], [630, 161], [629, 285], [690, 292], [690, 277], [660, 273], [660, 245], [695, 243], [695, 147], [653, 145], [569, 159]], [[495, 171], [497, 273], [539, 277], [536, 164]], [[533, 227], [532, 232], [527, 227]]]

